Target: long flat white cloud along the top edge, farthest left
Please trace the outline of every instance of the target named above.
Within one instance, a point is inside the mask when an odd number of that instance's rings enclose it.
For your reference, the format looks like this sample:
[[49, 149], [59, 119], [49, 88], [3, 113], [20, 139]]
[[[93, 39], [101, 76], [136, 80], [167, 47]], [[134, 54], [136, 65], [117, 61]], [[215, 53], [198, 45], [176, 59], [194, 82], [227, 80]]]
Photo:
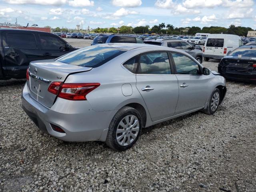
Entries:
[[67, 0], [5, 0], [9, 4], [63, 5]]

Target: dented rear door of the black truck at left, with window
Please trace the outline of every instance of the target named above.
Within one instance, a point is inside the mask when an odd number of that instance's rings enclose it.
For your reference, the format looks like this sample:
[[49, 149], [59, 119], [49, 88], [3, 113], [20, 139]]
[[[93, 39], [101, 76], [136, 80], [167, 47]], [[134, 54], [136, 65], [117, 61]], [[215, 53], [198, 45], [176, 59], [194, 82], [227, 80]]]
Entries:
[[29, 63], [40, 58], [35, 34], [11, 30], [2, 34], [2, 40], [7, 76], [25, 78]]

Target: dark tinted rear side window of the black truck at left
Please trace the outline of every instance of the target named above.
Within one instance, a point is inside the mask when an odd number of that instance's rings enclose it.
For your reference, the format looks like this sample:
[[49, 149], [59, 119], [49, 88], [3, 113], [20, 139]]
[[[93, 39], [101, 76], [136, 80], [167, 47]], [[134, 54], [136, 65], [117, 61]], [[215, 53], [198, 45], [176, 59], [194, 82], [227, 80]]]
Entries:
[[36, 49], [36, 39], [34, 34], [28, 33], [8, 33], [7, 43], [9, 46]]

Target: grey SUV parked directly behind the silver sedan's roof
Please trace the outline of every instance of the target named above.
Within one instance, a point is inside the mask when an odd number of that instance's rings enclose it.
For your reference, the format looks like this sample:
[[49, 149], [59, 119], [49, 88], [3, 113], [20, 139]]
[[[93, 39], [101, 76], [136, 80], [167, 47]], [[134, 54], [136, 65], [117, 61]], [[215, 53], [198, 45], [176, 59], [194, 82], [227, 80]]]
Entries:
[[194, 46], [188, 44], [188, 42], [184, 40], [172, 40], [172, 39], [164, 39], [164, 40], [144, 40], [145, 44], [152, 45], [160, 45], [165, 47], [172, 47], [175, 49], [181, 49], [188, 54], [192, 55], [199, 63], [202, 63], [203, 52], [201, 50], [195, 49]]

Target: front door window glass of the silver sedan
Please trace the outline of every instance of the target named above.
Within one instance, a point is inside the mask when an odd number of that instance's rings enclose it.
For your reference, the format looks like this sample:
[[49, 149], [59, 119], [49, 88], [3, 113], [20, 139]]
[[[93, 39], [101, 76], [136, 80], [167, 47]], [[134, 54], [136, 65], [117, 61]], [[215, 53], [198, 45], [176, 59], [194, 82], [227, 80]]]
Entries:
[[200, 75], [198, 64], [189, 57], [178, 53], [172, 53], [172, 57], [176, 66], [177, 74]]

